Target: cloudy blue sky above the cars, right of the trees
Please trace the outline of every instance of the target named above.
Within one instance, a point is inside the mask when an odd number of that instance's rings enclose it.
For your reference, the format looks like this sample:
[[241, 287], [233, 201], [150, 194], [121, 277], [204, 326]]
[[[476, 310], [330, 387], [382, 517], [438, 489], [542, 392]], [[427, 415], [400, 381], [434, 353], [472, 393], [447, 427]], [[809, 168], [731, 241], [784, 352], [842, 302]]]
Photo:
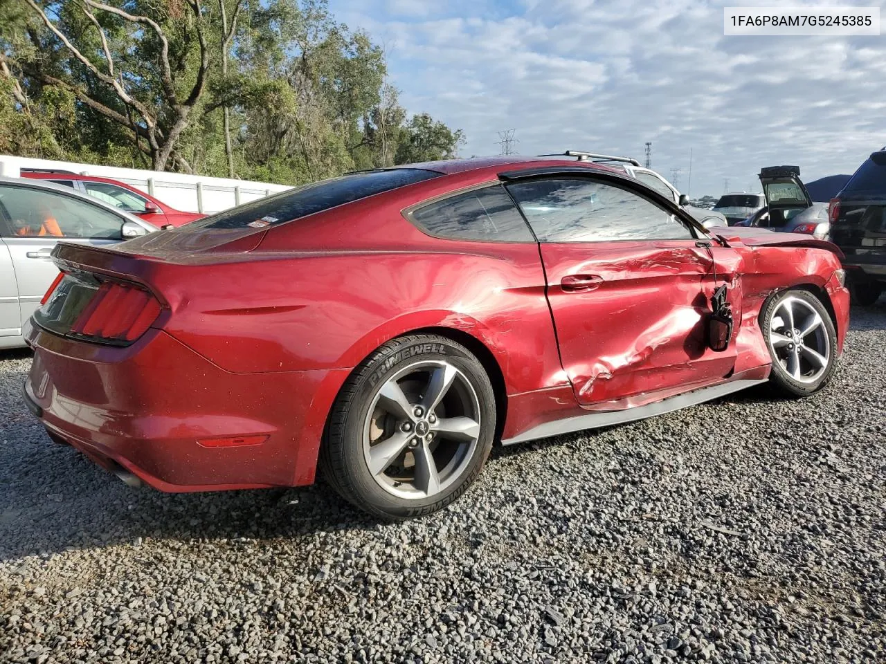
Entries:
[[[628, 154], [693, 197], [758, 190], [760, 166], [851, 174], [886, 144], [886, 35], [724, 36], [694, 0], [330, 0], [384, 45], [409, 112], [467, 135], [462, 156]], [[815, 6], [795, 0], [788, 6]], [[841, 2], [820, 5], [877, 3]], [[883, 12], [886, 19], [886, 12]], [[752, 188], [752, 189], [749, 189]]]

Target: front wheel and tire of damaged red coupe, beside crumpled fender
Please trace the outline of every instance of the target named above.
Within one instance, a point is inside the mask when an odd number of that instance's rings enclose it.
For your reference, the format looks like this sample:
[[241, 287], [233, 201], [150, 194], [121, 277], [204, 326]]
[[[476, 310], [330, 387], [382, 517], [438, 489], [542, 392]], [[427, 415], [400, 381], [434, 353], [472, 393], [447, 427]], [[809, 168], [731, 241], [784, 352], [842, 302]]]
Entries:
[[772, 358], [769, 380], [789, 397], [823, 388], [836, 368], [836, 332], [828, 310], [808, 290], [785, 290], [772, 297], [760, 316]]

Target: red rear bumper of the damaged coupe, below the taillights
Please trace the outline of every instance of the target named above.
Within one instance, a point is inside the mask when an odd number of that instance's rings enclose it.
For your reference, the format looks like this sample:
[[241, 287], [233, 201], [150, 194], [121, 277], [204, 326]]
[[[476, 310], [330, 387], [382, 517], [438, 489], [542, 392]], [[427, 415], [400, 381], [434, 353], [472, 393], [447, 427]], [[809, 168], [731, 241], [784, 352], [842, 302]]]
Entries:
[[[326, 414], [346, 369], [232, 374], [150, 330], [113, 348], [24, 329], [35, 349], [25, 401], [51, 436], [164, 491], [314, 481]], [[260, 444], [198, 441], [267, 436]]]

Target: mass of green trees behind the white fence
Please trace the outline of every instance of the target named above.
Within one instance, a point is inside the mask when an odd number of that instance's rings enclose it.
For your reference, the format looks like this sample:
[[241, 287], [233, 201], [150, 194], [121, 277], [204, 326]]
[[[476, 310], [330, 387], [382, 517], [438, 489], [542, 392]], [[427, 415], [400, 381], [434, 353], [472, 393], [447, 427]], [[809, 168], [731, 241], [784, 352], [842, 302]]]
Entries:
[[457, 156], [386, 77], [325, 0], [0, 0], [7, 154], [287, 184]]

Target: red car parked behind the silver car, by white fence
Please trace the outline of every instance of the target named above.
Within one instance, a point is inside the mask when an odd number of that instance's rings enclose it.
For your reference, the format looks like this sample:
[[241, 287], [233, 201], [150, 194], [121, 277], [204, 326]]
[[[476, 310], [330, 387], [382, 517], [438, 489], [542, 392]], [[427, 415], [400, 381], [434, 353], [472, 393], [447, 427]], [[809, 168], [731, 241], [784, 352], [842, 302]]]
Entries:
[[120, 210], [136, 214], [158, 228], [167, 224], [183, 226], [190, 221], [206, 217], [205, 214], [199, 212], [176, 210], [150, 194], [145, 194], [141, 189], [136, 189], [131, 184], [97, 175], [78, 175], [59, 171], [22, 171], [21, 176], [64, 184], [82, 194], [100, 198], [105, 203], [119, 207]]

